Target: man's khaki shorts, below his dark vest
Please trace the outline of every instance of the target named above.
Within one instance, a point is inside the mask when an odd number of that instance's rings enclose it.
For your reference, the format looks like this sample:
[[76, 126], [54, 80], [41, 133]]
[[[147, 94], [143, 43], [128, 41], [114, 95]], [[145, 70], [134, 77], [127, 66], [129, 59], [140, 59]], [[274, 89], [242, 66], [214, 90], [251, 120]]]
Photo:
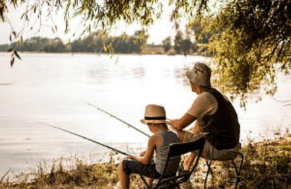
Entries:
[[[185, 131], [184, 141], [183, 142], [193, 142], [201, 139], [204, 134], [194, 134], [191, 131]], [[214, 146], [210, 144], [209, 141], [205, 140], [203, 151], [201, 157], [211, 160], [233, 160], [237, 156], [237, 152], [241, 148], [241, 143], [236, 145], [234, 148], [227, 150], [217, 150]], [[198, 154], [199, 150], [195, 150], [194, 153]]]

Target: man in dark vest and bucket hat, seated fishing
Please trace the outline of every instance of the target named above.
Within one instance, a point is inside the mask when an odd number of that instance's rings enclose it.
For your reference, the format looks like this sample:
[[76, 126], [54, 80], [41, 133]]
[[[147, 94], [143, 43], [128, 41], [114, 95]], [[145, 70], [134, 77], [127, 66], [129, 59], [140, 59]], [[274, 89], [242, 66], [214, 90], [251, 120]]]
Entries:
[[[236, 154], [227, 152], [226, 149], [240, 149], [240, 124], [236, 111], [226, 96], [211, 87], [209, 66], [195, 63], [194, 68], [186, 72], [186, 77], [190, 81], [192, 91], [198, 96], [184, 116], [166, 123], [177, 131], [183, 142], [195, 141], [202, 133], [206, 134], [202, 157], [213, 160], [233, 159]], [[195, 120], [192, 132], [182, 130]], [[183, 163], [185, 171], [190, 170], [196, 153], [192, 152]]]

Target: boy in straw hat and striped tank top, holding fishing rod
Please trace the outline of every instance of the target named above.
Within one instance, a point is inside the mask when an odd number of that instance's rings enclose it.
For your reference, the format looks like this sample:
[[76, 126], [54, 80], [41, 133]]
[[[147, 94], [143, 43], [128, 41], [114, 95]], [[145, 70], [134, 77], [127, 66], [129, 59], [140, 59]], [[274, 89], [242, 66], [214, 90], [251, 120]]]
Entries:
[[[139, 173], [149, 178], [160, 178], [165, 166], [169, 144], [179, 142], [178, 136], [166, 125], [166, 113], [162, 106], [147, 105], [145, 119], [153, 135], [148, 139], [148, 145], [143, 157], [129, 156], [118, 166], [118, 175], [122, 189], [129, 189], [129, 175]], [[151, 161], [155, 152], [154, 162]], [[165, 176], [176, 175], [181, 157], [171, 158], [168, 162]], [[152, 179], [150, 179], [151, 181]], [[151, 184], [151, 183], [149, 183]]]

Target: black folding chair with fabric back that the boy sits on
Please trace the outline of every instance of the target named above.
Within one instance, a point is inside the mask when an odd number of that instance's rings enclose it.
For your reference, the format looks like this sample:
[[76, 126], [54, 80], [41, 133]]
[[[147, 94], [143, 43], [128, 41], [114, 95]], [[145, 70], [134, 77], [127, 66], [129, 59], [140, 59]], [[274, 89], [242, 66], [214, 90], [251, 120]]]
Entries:
[[[178, 189], [181, 189], [179, 184], [186, 182], [190, 178], [191, 174], [194, 172], [198, 164], [200, 155], [203, 150], [204, 142], [205, 142], [205, 138], [201, 138], [194, 142], [170, 144], [164, 171], [161, 177], [159, 178], [159, 180], [156, 182], [156, 184], [150, 187], [147, 184], [144, 176], [140, 175], [146, 185], [146, 188], [147, 189], [171, 189], [172, 187], [176, 186], [178, 187]], [[182, 172], [182, 173], [179, 173], [178, 175], [171, 176], [171, 177], [164, 176], [167, 166], [168, 166], [168, 161], [171, 157], [180, 156], [180, 155], [183, 155], [195, 150], [199, 150], [199, 153], [196, 157], [193, 167], [191, 168], [189, 172]]]

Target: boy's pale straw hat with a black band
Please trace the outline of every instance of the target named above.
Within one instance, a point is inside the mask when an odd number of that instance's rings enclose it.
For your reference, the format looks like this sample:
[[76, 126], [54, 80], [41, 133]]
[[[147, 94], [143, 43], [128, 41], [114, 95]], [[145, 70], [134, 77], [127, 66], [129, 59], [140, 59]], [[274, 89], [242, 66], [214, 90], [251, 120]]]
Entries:
[[145, 119], [142, 119], [143, 124], [153, 123], [153, 124], [162, 124], [166, 123], [166, 112], [164, 107], [149, 104], [146, 106]]

